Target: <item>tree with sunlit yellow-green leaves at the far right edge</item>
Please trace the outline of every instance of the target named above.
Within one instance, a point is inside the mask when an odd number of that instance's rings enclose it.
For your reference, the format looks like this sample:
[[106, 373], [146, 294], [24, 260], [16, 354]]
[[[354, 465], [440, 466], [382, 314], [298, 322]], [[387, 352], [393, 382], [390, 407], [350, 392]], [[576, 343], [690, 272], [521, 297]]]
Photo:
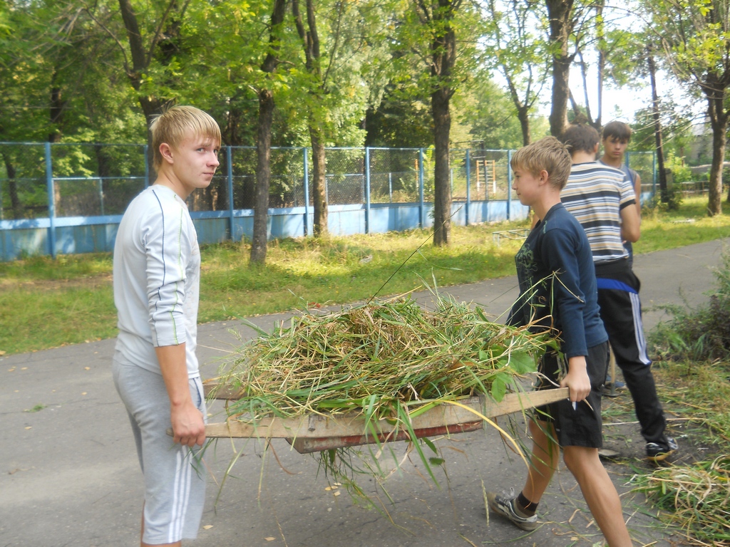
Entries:
[[[645, 4], [669, 65], [707, 99], [712, 128], [710, 216], [722, 213], [722, 174], [730, 118], [730, 2], [658, 0]], [[728, 195], [730, 201], [730, 195]]]

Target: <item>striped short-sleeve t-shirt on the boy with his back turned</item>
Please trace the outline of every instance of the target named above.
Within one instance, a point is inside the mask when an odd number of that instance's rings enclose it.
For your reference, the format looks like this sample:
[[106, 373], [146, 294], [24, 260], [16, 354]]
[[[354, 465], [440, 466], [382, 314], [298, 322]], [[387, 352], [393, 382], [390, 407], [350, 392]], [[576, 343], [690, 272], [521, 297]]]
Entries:
[[621, 209], [636, 203], [634, 188], [618, 169], [576, 163], [560, 195], [588, 236], [593, 263], [627, 257], [621, 238]]

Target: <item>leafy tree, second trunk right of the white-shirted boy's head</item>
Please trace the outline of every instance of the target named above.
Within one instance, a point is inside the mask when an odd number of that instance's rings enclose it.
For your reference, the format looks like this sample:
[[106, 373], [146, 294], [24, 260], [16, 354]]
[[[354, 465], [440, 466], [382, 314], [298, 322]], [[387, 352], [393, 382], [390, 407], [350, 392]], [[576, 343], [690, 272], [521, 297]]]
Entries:
[[307, 112], [315, 236], [328, 233], [325, 146], [337, 142], [361, 146], [366, 110], [383, 94], [387, 81], [383, 65], [388, 62], [385, 23], [391, 20], [387, 9], [392, 4], [306, 0], [306, 13], [302, 13], [299, 0], [292, 0], [304, 46], [304, 70], [294, 67], [289, 74], [292, 87], [299, 88], [298, 114], [302, 107]]

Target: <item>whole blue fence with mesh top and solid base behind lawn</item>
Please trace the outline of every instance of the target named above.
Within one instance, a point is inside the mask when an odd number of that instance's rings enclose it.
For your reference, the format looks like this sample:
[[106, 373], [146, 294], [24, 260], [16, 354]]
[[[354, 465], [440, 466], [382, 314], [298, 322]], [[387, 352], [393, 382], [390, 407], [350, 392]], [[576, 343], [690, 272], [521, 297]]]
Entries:
[[[0, 142], [0, 260], [112, 250], [126, 206], [150, 184], [146, 149], [136, 144]], [[330, 233], [431, 227], [432, 154], [431, 149], [327, 149]], [[452, 151], [452, 222], [526, 216], [526, 207], [513, 200], [511, 154]], [[312, 234], [309, 155], [307, 148], [272, 149], [269, 238]], [[650, 156], [642, 156], [636, 166], [632, 161], [644, 181], [655, 178]], [[255, 160], [253, 147], [224, 147], [210, 187], [188, 198], [201, 243], [253, 235]]]

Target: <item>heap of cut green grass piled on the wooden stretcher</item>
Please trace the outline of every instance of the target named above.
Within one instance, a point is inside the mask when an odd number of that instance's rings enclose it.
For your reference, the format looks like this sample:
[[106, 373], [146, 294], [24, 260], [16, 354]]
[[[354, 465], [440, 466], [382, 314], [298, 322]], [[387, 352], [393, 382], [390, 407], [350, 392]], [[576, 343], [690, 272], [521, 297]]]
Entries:
[[[437, 297], [429, 311], [401, 296], [301, 314], [270, 333], [258, 330], [258, 337], [221, 367], [218, 385], [243, 394], [228, 402], [228, 419], [255, 424], [263, 417], [312, 413], [361, 414], [371, 425], [387, 419], [410, 433], [408, 446], [438, 484], [431, 466], [443, 460], [426, 457], [423, 446], [434, 453], [437, 448], [429, 439], [415, 438], [411, 419], [477, 394], [499, 402], [507, 391], [519, 389], [518, 378], [537, 372], [537, 359], [549, 345], [554, 341], [548, 335], [492, 322], [475, 306]], [[315, 457], [330, 480], [367, 498], [355, 475], [377, 479], [392, 473], [380, 465], [383, 452], [377, 443]]]

